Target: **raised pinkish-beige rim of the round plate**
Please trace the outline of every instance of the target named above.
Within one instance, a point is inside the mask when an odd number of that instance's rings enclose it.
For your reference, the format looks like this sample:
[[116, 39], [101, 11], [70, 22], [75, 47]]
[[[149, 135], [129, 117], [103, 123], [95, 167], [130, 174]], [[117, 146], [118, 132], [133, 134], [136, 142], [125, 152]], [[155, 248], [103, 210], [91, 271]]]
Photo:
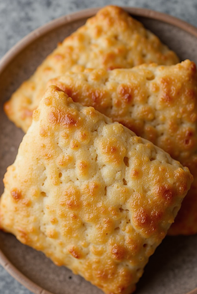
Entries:
[[[21, 41], [19, 41], [15, 46], [13, 46], [0, 60], [0, 74], [4, 71], [4, 69], [9, 65], [9, 63], [17, 56], [23, 49], [26, 48], [29, 44], [31, 44], [33, 41], [38, 39], [39, 37], [43, 36], [44, 34], [48, 33], [49, 31], [58, 28], [62, 25], [69, 25], [71, 22], [88, 18], [93, 16], [97, 13], [97, 11], [101, 7], [98, 8], [90, 8], [90, 9], [84, 9], [78, 12], [74, 12], [72, 14], [68, 14], [65, 16], [61, 16], [58, 19], [54, 19], [50, 21], [49, 23], [39, 27], [38, 29], [35, 29], [30, 34], [25, 36]], [[165, 23], [174, 25], [179, 27], [180, 29], [188, 32], [189, 34], [195, 36], [197, 38], [197, 28], [192, 26], [191, 24], [188, 24], [185, 21], [182, 21], [181, 19], [178, 19], [174, 16], [170, 16], [168, 14], [164, 14], [158, 11], [153, 11], [150, 9], [145, 8], [135, 8], [135, 7], [123, 7], [126, 11], [128, 11], [133, 16], [142, 16], [147, 17], [151, 19], [156, 19], [159, 21], [163, 21]], [[36, 283], [32, 282], [29, 278], [27, 278], [25, 275], [23, 275], [10, 261], [9, 259], [4, 255], [4, 253], [0, 250], [0, 264], [6, 269], [6, 271], [13, 276], [18, 282], [20, 282], [23, 286], [25, 286], [27, 289], [32, 291], [35, 294], [53, 294], [42, 287], [36, 285]], [[194, 290], [186, 293], [186, 294], [197, 294], [197, 288]]]

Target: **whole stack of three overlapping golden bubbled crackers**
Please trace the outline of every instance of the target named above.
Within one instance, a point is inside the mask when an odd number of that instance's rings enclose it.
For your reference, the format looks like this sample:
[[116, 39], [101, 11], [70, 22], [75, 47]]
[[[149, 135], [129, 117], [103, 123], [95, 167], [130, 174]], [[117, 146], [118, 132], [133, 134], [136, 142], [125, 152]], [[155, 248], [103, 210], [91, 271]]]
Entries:
[[192, 61], [102, 8], [5, 103], [26, 134], [1, 229], [107, 294], [132, 293], [167, 232], [197, 233], [196, 98]]

